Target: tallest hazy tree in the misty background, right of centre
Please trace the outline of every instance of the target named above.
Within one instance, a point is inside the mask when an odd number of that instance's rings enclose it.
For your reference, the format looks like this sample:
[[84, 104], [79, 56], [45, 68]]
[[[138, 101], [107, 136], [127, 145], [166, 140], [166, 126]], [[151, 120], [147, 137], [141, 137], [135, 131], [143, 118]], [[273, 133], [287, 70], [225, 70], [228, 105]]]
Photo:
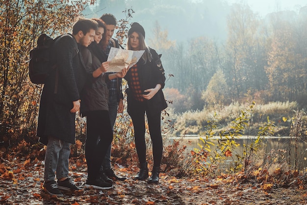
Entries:
[[250, 7], [235, 4], [228, 19], [228, 65], [224, 72], [236, 99], [243, 97], [250, 89], [261, 89], [258, 81], [263, 79], [265, 61], [259, 55], [263, 44], [259, 41], [258, 29], [258, 18]]

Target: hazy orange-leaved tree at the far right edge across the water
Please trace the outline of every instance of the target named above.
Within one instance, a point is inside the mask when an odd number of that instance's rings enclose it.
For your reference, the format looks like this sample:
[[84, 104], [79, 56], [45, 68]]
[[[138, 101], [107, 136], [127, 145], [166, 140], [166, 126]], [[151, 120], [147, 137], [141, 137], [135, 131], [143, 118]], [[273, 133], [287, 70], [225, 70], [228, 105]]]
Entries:
[[[306, 37], [285, 13], [271, 15], [272, 37], [265, 67], [272, 100], [296, 100], [306, 93]], [[305, 22], [306, 23], [306, 22]], [[303, 27], [304, 28], [304, 27]], [[302, 45], [301, 45], [302, 44]]]

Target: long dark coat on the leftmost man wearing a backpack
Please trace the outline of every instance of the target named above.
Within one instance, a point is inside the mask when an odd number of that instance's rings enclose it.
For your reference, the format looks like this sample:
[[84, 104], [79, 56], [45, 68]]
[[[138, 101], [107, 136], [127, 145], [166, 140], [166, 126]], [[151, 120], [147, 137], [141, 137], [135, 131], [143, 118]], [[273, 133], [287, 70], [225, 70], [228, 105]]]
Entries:
[[48, 136], [75, 144], [76, 114], [70, 110], [74, 107], [73, 101], [80, 99], [79, 93], [86, 81], [78, 46], [71, 34], [62, 35], [53, 44], [52, 59], [57, 67], [51, 72], [43, 88], [36, 134], [39, 142], [45, 145], [48, 143]]

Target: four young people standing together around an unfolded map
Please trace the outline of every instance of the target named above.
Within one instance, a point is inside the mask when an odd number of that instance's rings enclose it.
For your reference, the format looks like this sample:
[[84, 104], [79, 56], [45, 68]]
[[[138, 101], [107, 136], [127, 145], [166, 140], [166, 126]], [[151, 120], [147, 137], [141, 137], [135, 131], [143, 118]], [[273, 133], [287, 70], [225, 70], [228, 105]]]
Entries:
[[[75, 144], [75, 117], [80, 111], [86, 117], [85, 187], [110, 189], [116, 176], [111, 168], [111, 143], [117, 113], [124, 110], [122, 78], [128, 82], [128, 114], [134, 127], [134, 139], [140, 170], [135, 180], [159, 181], [163, 153], [161, 111], [167, 107], [162, 88], [165, 84], [160, 57], [145, 43], [145, 30], [133, 23], [128, 30], [127, 49], [144, 54], [131, 68], [108, 72], [107, 57], [119, 43], [112, 38], [116, 18], [103, 14], [100, 19], [78, 17], [72, 33], [57, 38], [52, 47], [52, 70], [44, 85], [38, 116], [37, 136], [47, 146], [43, 190], [52, 196], [63, 196], [62, 190], [75, 191], [69, 177], [70, 146]], [[153, 169], [149, 177], [146, 160], [145, 114], [153, 143]], [[56, 180], [55, 180], [56, 176]]]

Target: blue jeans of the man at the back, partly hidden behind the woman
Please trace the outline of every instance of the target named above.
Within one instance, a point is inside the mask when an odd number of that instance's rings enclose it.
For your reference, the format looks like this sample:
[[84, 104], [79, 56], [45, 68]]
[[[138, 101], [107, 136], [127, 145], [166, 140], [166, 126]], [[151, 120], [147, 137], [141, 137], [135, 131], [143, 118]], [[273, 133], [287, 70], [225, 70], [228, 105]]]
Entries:
[[[117, 116], [117, 108], [118, 108], [118, 102], [117, 102], [117, 97], [116, 95], [109, 96], [109, 117], [110, 117], [110, 122], [111, 122], [111, 127], [112, 131], [114, 131], [114, 124], [116, 121], [116, 116]], [[111, 147], [110, 145], [108, 149], [106, 150], [106, 154], [102, 163], [103, 169], [111, 169]]]

